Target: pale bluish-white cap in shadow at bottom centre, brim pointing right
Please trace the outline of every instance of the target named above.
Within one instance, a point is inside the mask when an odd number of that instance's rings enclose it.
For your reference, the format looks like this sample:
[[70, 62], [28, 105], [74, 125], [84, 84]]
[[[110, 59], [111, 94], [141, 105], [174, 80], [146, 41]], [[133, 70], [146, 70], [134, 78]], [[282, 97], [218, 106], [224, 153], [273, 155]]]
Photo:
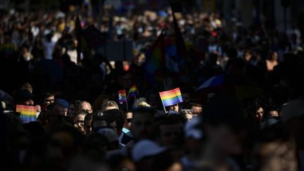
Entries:
[[159, 153], [162, 153], [165, 150], [167, 150], [167, 148], [163, 146], [158, 146], [156, 142], [144, 139], [135, 144], [132, 151], [132, 157], [134, 162], [137, 162], [142, 158], [158, 155]]

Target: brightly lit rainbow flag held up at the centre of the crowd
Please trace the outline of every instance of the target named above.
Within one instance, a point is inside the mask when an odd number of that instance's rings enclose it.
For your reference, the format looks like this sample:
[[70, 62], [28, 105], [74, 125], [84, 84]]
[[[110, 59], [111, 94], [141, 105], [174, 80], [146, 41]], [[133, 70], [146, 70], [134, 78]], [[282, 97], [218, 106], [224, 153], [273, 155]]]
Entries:
[[159, 94], [160, 94], [160, 99], [163, 102], [163, 106], [172, 106], [177, 103], [183, 102], [182, 93], [179, 88], [168, 91], [162, 91], [159, 92]]

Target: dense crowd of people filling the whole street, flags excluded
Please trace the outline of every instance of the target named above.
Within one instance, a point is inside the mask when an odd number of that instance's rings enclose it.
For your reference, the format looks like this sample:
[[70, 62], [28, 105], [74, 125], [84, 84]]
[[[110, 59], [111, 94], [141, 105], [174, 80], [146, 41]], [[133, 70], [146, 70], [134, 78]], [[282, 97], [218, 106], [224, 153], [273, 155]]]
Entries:
[[[124, 16], [109, 9], [103, 18], [85, 12], [1, 11], [3, 166], [304, 170], [304, 53], [296, 25], [284, 33], [218, 13], [176, 15], [186, 75], [165, 70], [151, 84], [146, 51], [164, 30], [167, 39], [175, 36], [170, 8]], [[89, 46], [79, 53], [77, 15], [82, 28], [93, 24], [106, 40], [131, 40], [134, 60], [113, 63]], [[219, 75], [222, 82], [210, 84]], [[133, 85], [136, 95], [120, 103], [118, 91]], [[163, 106], [159, 92], [176, 87], [183, 101]], [[35, 121], [25, 122], [16, 106], [35, 106]]]

